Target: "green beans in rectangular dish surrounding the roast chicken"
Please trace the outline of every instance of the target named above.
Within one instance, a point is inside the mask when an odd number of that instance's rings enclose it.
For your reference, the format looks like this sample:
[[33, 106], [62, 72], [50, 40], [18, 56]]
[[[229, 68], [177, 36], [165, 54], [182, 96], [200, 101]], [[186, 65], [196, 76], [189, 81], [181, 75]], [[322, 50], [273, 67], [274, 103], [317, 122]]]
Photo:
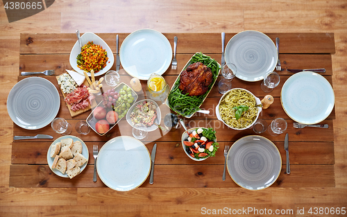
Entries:
[[[188, 119], [191, 118], [198, 110], [201, 110], [201, 105], [205, 101], [205, 98], [208, 97], [208, 94], [210, 93], [214, 83], [216, 83], [219, 72], [221, 71], [221, 64], [219, 64], [217, 60], [214, 60], [210, 56], [201, 52], [195, 53], [187, 64], [185, 64], [182, 71], [184, 71], [190, 64], [195, 62], [202, 62], [211, 69], [212, 83], [208, 86], [208, 91], [200, 96], [188, 96], [188, 94], [183, 94], [182, 90], [178, 88], [180, 85], [179, 74], [174, 85], [171, 87], [169, 96], [167, 96], [167, 101], [165, 103], [168, 107], [170, 107], [171, 110]], [[182, 73], [182, 71], [180, 73]]]

